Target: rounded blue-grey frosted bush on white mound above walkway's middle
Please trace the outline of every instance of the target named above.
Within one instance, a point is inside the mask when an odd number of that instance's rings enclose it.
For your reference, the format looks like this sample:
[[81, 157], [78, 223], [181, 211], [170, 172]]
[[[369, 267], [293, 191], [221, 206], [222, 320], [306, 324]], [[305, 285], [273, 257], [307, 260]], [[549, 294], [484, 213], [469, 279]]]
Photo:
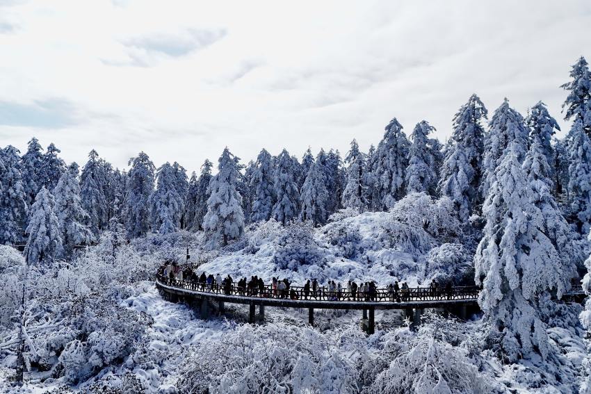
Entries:
[[277, 237], [273, 261], [281, 269], [297, 271], [303, 265], [321, 265], [323, 254], [309, 223], [294, 223]]

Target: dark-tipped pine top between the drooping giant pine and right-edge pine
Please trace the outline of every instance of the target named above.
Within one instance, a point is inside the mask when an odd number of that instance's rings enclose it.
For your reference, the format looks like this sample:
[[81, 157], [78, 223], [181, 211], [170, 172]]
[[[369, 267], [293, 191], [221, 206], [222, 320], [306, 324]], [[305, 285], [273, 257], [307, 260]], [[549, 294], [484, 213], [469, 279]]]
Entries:
[[552, 138], [556, 134], [556, 130], [560, 131], [560, 126], [558, 126], [556, 119], [550, 116], [546, 104], [542, 103], [542, 101], [538, 101], [531, 108], [528, 117], [526, 117], [526, 124], [530, 130], [530, 142], [532, 144], [535, 140], [540, 142], [540, 147], [549, 164], [549, 179], [553, 182], [556, 177], [554, 176], [555, 155]]

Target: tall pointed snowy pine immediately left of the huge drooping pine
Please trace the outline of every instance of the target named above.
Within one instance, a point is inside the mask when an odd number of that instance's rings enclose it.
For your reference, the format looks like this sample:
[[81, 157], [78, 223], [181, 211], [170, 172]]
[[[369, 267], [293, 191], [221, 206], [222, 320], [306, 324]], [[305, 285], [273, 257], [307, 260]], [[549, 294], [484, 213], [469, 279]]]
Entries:
[[453, 117], [453, 133], [446, 147], [446, 155], [439, 179], [439, 193], [452, 199], [460, 218], [468, 220], [474, 212], [478, 186], [482, 179], [484, 129], [487, 109], [477, 95], [471, 95]]

